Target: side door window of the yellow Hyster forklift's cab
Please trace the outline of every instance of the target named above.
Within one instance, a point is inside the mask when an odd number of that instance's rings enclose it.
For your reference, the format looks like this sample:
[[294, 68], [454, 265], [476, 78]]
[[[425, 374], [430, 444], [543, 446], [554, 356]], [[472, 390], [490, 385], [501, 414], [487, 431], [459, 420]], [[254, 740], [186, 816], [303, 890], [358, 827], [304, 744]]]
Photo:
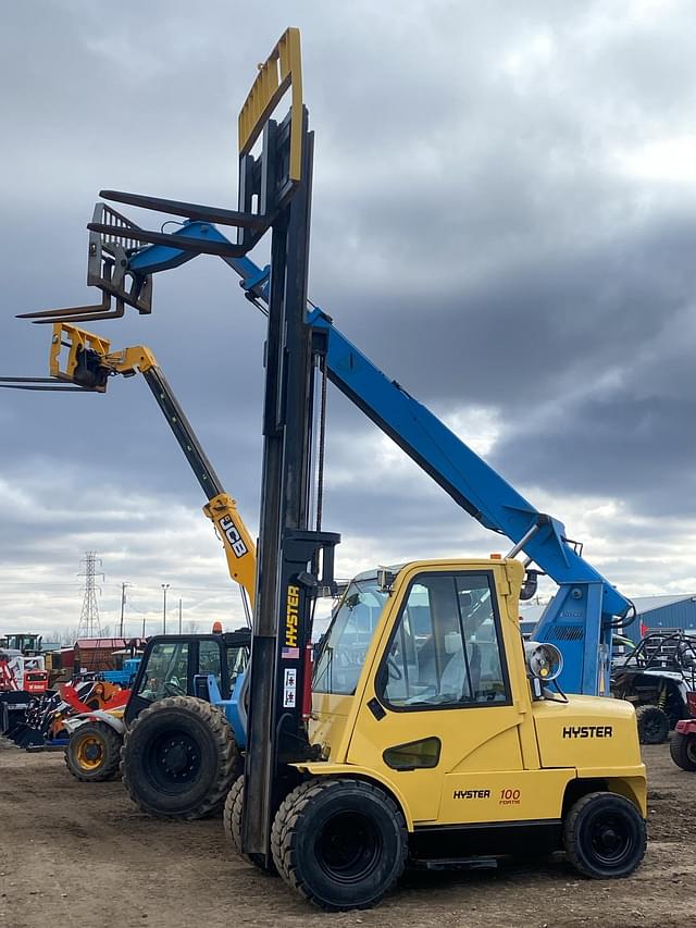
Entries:
[[423, 573], [411, 584], [378, 672], [397, 709], [509, 702], [493, 577]]

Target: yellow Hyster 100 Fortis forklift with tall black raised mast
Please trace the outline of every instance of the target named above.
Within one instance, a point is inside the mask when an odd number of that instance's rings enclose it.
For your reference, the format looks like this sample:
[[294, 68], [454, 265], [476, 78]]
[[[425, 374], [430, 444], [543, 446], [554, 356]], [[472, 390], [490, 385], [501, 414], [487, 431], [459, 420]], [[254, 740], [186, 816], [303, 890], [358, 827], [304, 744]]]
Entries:
[[[258, 116], [284, 87], [296, 108], [299, 55], [289, 30], [260, 69], [239, 120], [243, 163]], [[290, 115], [289, 136], [290, 180], [294, 144], [300, 152], [293, 197], [269, 203], [268, 186], [259, 188], [260, 211], [276, 219], [247, 755], [225, 814], [234, 843], [327, 910], [374, 905], [407, 863], [457, 867], [512, 850], [564, 849], [588, 877], [626, 876], [646, 845], [635, 713], [554, 691], [560, 652], [520, 635], [520, 595], [534, 577], [514, 558], [518, 545], [506, 558], [417, 561], [357, 578], [312, 682], [314, 590], [332, 582], [340, 537], [321, 529], [312, 463], [314, 444], [323, 457], [325, 404], [322, 388], [316, 417], [314, 385], [320, 372], [323, 387], [328, 345], [306, 313], [306, 110]]]

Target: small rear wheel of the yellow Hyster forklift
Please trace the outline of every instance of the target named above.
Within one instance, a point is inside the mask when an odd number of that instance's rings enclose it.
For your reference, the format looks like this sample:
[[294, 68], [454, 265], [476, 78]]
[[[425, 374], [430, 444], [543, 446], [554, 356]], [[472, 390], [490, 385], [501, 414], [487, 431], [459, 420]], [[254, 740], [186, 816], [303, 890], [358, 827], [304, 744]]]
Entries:
[[632, 874], [645, 854], [645, 819], [630, 800], [616, 793], [588, 793], [563, 822], [563, 847], [575, 869], [592, 879]]

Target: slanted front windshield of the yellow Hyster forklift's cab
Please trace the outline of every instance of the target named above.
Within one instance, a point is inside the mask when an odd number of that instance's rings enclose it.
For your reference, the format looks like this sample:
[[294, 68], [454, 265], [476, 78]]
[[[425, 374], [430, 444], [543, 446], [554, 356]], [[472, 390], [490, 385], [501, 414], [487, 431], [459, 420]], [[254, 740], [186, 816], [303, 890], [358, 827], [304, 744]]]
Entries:
[[377, 578], [353, 580], [340, 601], [321, 647], [312, 689], [352, 695], [387, 593]]

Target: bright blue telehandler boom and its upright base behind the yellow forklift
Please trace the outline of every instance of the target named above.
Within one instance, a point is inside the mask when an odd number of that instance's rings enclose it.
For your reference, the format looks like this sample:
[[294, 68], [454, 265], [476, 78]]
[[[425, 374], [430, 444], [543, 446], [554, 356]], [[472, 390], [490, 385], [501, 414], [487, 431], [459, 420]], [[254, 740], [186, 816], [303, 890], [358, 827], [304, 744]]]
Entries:
[[[210, 223], [185, 222], [177, 234], [229, 240]], [[196, 255], [176, 247], [149, 245], [135, 252], [128, 270], [153, 274], [178, 267]], [[251, 259], [223, 258], [241, 277], [253, 300], [268, 295], [270, 268]], [[308, 311], [308, 324], [326, 341], [328, 379], [463, 509], [487, 529], [506, 535], [559, 585], [535, 629], [563, 653], [560, 685], [570, 693], [607, 695], [612, 621], [632, 604], [592, 567], [566, 537], [563, 523], [539, 512], [451, 432], [425, 406], [389, 380], [333, 324], [321, 309]], [[231, 719], [232, 722], [232, 719]], [[234, 722], [233, 722], [234, 726]], [[235, 732], [236, 734], [236, 732]]]

